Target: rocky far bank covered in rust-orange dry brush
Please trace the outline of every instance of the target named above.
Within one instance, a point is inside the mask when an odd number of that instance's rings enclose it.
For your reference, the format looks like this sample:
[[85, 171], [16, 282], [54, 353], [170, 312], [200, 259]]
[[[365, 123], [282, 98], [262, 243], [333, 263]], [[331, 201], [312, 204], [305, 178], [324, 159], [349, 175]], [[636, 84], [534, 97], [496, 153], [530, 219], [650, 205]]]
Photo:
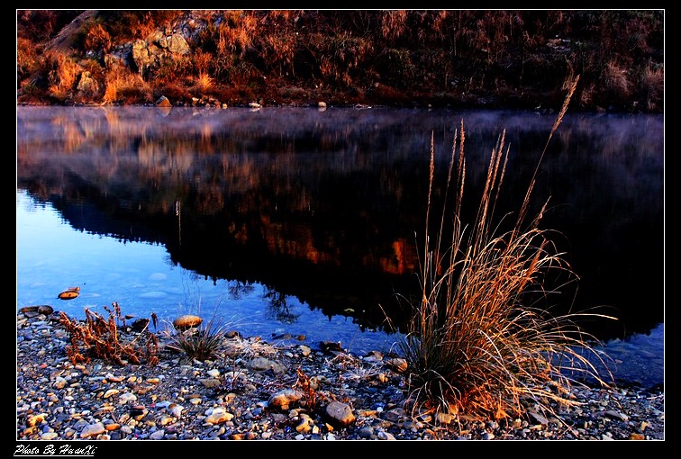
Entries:
[[17, 103], [664, 111], [664, 11], [18, 10]]

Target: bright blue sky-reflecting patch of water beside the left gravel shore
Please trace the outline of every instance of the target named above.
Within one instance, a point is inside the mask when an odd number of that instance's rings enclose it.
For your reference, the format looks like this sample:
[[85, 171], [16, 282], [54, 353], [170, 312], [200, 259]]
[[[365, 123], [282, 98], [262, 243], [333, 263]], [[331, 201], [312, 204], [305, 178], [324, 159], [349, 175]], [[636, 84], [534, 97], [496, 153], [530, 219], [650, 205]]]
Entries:
[[[88, 234], [73, 229], [49, 204], [34, 202], [27, 193], [16, 193], [17, 310], [49, 304], [70, 317], [85, 318], [85, 309], [108, 317], [104, 307], [118, 302], [123, 315], [159, 318], [159, 329], [177, 316], [198, 314], [217, 327], [259, 336], [304, 336], [304, 343], [340, 341], [355, 354], [388, 350], [399, 335], [360, 329], [352, 318], [327, 317], [294, 296], [286, 297], [286, 323], [266, 296], [262, 284], [195, 275], [168, 259], [165, 247]], [[102, 266], [105, 266], [102, 269]], [[74, 300], [57, 295], [68, 287], [80, 287]]]

